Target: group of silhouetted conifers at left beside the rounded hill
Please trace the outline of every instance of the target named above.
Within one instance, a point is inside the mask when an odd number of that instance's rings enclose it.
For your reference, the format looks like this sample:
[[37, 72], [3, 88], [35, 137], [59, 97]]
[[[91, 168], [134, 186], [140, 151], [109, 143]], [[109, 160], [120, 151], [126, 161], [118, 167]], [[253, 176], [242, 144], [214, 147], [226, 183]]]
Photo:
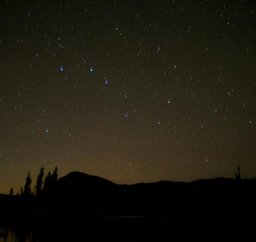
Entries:
[[[36, 185], [31, 189], [32, 179], [30, 178], [30, 173], [26, 177], [26, 183], [20, 188], [20, 193], [17, 192], [16, 195], [22, 196], [38, 196], [42, 191], [49, 189], [58, 180], [58, 168], [55, 167], [53, 173], [48, 172], [44, 178], [44, 167], [40, 168], [39, 174], [36, 179]], [[10, 195], [13, 195], [13, 188], [10, 189]]]

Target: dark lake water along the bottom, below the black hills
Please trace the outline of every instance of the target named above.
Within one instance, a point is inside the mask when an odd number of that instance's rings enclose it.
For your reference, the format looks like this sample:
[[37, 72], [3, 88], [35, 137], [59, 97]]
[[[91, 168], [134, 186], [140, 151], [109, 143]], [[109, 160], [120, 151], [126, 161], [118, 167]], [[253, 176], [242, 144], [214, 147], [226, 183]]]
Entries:
[[[76, 241], [170, 241], [173, 238], [206, 238], [219, 241], [228, 238], [255, 236], [253, 221], [219, 221], [170, 218], [98, 218], [68, 224], [48, 224], [41, 227], [0, 225], [2, 232], [17, 242]], [[5, 230], [5, 231], [3, 231]], [[1, 240], [9, 242], [9, 240]], [[10, 240], [11, 241], [11, 240]]]

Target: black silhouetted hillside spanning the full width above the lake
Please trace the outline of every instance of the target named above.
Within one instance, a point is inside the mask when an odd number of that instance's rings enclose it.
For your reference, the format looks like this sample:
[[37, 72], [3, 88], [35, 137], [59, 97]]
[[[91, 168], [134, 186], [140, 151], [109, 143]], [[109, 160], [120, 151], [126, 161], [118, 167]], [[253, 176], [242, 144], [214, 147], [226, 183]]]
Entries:
[[53, 214], [62, 222], [100, 216], [242, 220], [247, 214], [256, 215], [255, 193], [256, 179], [119, 185], [98, 176], [71, 172], [39, 197], [0, 196], [0, 216], [48, 223]]

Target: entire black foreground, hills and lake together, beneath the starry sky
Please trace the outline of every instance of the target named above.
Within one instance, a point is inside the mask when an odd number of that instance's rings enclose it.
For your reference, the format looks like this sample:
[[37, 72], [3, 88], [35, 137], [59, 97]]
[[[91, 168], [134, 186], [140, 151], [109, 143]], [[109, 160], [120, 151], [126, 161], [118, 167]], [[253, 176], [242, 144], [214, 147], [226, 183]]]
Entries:
[[0, 196], [0, 232], [18, 242], [255, 237], [255, 198], [255, 179], [127, 186], [73, 172], [41, 196]]

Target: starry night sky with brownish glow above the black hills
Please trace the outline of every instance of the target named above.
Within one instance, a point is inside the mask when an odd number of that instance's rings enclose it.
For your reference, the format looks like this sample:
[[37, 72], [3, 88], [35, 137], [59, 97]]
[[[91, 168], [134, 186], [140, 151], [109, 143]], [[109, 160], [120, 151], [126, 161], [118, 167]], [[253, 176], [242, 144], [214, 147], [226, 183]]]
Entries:
[[0, 26], [0, 193], [256, 176], [256, 1], [2, 0]]

